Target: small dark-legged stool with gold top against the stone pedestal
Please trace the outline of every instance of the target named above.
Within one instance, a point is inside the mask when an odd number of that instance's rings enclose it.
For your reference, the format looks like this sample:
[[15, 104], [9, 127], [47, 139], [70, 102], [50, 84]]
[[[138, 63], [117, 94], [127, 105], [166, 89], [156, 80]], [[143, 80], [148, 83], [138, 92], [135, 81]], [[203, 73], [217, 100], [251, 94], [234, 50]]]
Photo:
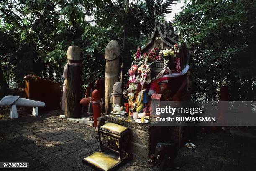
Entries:
[[[129, 133], [130, 130], [127, 127], [115, 123], [106, 123], [105, 125], [101, 126], [99, 129], [100, 151], [102, 151], [103, 145], [105, 144], [102, 141], [107, 138], [107, 146], [104, 147], [118, 153], [118, 159], [122, 160], [122, 153], [127, 152], [127, 148], [124, 151], [123, 146], [126, 144], [128, 147]], [[110, 146], [111, 141], [114, 141], [117, 148]]]

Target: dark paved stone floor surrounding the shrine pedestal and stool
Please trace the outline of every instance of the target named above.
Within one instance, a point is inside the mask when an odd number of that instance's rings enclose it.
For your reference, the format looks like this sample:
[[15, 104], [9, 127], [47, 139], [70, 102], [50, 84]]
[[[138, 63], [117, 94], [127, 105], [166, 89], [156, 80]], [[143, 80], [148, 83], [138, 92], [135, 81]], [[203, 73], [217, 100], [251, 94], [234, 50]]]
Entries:
[[[8, 108], [0, 108], [0, 162], [29, 162], [29, 169], [37, 171], [92, 170], [81, 159], [99, 147], [94, 128], [60, 118], [62, 111], [40, 112], [35, 117], [19, 108], [19, 118], [14, 120], [8, 118], [8, 112]], [[253, 134], [199, 135], [188, 141], [195, 144], [195, 150], [179, 149], [174, 170], [256, 170], [256, 138], [248, 136]], [[130, 161], [119, 170], [153, 169]]]

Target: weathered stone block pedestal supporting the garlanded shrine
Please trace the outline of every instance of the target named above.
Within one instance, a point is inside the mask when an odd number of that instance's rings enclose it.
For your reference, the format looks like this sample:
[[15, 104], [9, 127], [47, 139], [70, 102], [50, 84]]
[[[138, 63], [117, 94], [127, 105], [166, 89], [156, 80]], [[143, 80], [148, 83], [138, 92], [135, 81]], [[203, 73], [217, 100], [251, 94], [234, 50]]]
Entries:
[[133, 158], [146, 163], [151, 154], [155, 153], [157, 143], [172, 142], [176, 143], [177, 147], [184, 146], [186, 139], [192, 137], [195, 129], [191, 127], [157, 127], [155, 118], [150, 118], [149, 123], [139, 124], [133, 121], [133, 117], [128, 122], [128, 115], [125, 118], [120, 118], [116, 115], [105, 115], [105, 120], [108, 122], [120, 124], [128, 127], [131, 130], [130, 153]]

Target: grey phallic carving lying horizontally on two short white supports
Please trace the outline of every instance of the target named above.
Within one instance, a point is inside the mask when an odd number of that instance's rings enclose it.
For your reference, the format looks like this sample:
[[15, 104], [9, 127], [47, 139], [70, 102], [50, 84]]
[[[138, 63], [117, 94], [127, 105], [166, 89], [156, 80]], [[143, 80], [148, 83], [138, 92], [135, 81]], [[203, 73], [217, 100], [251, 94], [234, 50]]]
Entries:
[[32, 115], [38, 116], [38, 107], [44, 107], [44, 102], [33, 101], [20, 96], [5, 96], [0, 101], [0, 106], [10, 106], [10, 115], [12, 119], [18, 118], [16, 106], [33, 107]]

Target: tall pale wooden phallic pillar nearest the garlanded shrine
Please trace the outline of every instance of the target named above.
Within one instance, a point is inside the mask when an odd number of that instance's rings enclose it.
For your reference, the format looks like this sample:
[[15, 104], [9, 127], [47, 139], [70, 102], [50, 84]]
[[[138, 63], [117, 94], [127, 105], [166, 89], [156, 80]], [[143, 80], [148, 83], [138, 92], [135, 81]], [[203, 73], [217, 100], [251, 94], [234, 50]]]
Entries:
[[109, 96], [115, 82], [118, 81], [120, 47], [116, 40], [111, 40], [105, 48], [105, 113], [108, 114]]

